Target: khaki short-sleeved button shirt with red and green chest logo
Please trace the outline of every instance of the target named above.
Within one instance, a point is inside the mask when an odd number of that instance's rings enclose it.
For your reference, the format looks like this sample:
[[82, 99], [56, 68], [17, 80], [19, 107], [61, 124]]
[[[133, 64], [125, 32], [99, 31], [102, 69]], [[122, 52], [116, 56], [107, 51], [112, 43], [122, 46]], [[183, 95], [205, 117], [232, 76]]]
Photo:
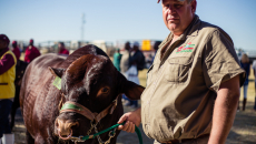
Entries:
[[[196, 16], [179, 39], [170, 33], [159, 45], [141, 95], [141, 121], [147, 136], [160, 142], [209, 134], [221, 82], [245, 72], [229, 35]], [[163, 48], [169, 47], [160, 60]]]

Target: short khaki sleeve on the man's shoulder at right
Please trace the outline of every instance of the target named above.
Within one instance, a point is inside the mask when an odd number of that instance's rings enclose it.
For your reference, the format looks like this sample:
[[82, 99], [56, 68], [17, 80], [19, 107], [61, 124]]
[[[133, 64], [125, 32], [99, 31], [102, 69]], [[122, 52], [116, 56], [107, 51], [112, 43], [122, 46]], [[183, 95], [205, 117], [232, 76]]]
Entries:
[[234, 44], [223, 30], [215, 30], [208, 38], [203, 52], [203, 73], [207, 88], [218, 92], [219, 85], [239, 75], [240, 85], [245, 81], [245, 71], [240, 68]]

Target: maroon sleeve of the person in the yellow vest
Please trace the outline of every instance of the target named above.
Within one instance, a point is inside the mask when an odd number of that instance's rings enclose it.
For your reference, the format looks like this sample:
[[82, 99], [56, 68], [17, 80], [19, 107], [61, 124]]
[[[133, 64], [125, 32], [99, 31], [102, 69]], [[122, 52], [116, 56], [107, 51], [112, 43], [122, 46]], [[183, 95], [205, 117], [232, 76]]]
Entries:
[[3, 55], [3, 58], [0, 60], [0, 74], [7, 72], [14, 64], [14, 59], [11, 54]]

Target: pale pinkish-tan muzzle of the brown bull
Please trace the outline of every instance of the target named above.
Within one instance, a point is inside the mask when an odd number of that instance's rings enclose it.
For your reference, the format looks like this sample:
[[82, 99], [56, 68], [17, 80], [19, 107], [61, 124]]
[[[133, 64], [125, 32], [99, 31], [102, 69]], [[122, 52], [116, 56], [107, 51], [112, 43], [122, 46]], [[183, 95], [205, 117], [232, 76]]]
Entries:
[[78, 126], [78, 122], [70, 122], [65, 120], [56, 120], [56, 128], [58, 135], [62, 140], [69, 140], [72, 136], [72, 126]]

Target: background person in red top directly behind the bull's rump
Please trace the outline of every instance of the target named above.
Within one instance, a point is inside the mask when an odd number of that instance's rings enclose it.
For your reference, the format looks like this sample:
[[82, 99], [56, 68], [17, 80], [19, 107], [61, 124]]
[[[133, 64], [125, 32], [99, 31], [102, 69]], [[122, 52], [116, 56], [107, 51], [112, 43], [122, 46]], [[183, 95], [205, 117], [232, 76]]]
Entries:
[[33, 45], [33, 39], [29, 41], [29, 47], [26, 49], [24, 52], [24, 62], [30, 63], [33, 59], [41, 55], [39, 50]]

